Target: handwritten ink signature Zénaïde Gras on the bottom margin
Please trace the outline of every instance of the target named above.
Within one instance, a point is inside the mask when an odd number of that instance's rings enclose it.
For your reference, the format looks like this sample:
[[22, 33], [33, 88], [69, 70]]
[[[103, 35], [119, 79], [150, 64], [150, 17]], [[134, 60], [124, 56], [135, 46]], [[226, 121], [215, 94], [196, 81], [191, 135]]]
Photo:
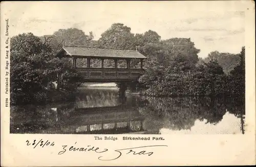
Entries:
[[[75, 143], [76, 144], [76, 143]], [[64, 154], [66, 151], [81, 151], [81, 152], [86, 152], [86, 151], [93, 151], [95, 153], [106, 153], [109, 152], [109, 149], [100, 149], [98, 147], [91, 147], [90, 145], [87, 148], [76, 148], [74, 146], [69, 147], [69, 149], [67, 148], [68, 145], [63, 145], [62, 146], [62, 151], [60, 151], [58, 153], [58, 155]], [[148, 148], [148, 147], [168, 147], [166, 145], [151, 145], [151, 146], [140, 146], [140, 147], [133, 147], [133, 148], [125, 148], [125, 149], [118, 149], [118, 150], [114, 150], [116, 153], [118, 153], [117, 155], [115, 155], [112, 158], [104, 158], [103, 156], [99, 156], [98, 159], [99, 160], [115, 160], [121, 157], [122, 154], [132, 154], [132, 155], [148, 155], [151, 156], [154, 152], [153, 151], [146, 151], [146, 150], [142, 150], [142, 148]]]

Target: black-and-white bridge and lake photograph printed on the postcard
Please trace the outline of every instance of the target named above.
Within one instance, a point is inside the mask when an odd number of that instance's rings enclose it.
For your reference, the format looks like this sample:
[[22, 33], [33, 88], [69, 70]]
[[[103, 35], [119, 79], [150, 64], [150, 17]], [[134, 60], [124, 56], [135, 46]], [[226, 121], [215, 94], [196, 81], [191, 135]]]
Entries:
[[38, 3], [7, 19], [10, 133], [246, 133], [245, 12], [147, 4]]

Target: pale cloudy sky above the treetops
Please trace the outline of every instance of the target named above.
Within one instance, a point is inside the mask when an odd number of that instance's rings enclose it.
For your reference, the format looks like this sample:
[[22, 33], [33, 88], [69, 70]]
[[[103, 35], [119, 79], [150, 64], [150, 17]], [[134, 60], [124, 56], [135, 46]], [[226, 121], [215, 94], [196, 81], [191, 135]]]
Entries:
[[76, 27], [94, 39], [113, 23], [132, 33], [157, 32], [161, 39], [190, 38], [200, 49], [239, 53], [245, 45], [245, 13], [236, 2], [15, 2], [9, 10], [10, 34], [50, 35]]

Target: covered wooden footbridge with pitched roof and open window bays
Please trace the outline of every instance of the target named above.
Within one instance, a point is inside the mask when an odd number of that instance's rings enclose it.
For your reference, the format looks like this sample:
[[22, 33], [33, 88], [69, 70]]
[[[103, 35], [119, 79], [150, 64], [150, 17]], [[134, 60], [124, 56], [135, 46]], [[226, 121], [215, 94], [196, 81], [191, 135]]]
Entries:
[[[137, 50], [93, 49], [63, 46], [58, 52], [59, 58], [72, 58], [72, 65], [79, 70], [84, 81], [136, 81], [143, 74], [143, 60], [146, 59]], [[86, 59], [87, 67], [77, 68], [77, 59]], [[91, 67], [91, 59], [101, 60], [100, 68]], [[131, 60], [140, 60], [140, 69], [131, 68]], [[104, 60], [114, 60], [114, 68], [104, 68]], [[126, 68], [118, 68], [118, 60], [126, 61]], [[84, 61], [85, 62], [85, 61]]]

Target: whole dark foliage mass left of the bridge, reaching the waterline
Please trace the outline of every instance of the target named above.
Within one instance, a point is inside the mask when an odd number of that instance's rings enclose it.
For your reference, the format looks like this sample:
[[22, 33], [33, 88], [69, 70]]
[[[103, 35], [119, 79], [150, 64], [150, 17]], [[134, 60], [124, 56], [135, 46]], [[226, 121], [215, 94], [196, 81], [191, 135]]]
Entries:
[[32, 33], [11, 38], [10, 59], [12, 103], [63, 100], [80, 78], [70, 60], [56, 58], [48, 42]]

